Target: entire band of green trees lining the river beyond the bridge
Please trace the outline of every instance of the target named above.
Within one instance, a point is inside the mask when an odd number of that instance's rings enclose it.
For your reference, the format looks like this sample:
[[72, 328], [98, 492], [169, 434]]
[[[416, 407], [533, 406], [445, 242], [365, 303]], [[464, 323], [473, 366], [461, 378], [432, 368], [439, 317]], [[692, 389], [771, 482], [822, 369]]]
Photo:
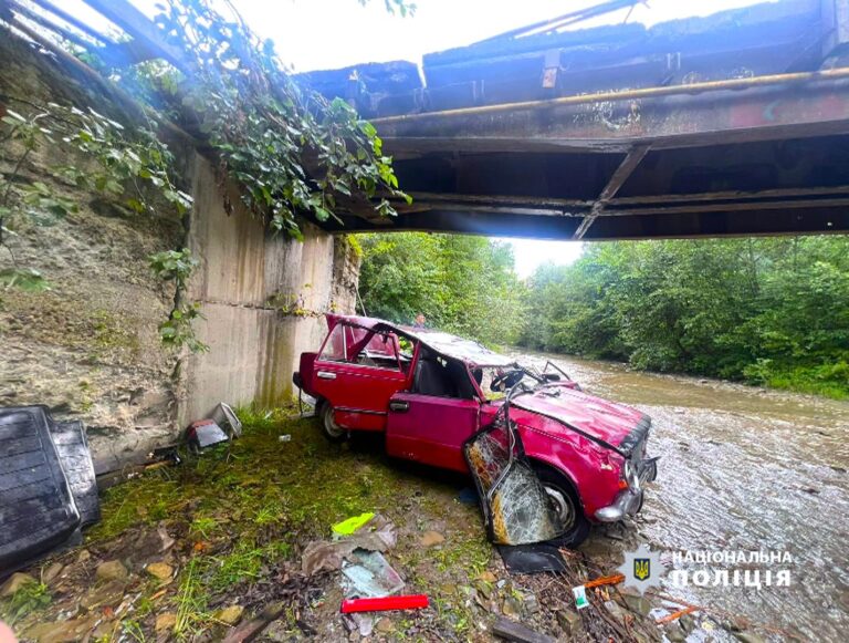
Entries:
[[370, 314], [490, 344], [849, 397], [849, 238], [614, 242], [526, 283], [484, 238], [360, 237]]

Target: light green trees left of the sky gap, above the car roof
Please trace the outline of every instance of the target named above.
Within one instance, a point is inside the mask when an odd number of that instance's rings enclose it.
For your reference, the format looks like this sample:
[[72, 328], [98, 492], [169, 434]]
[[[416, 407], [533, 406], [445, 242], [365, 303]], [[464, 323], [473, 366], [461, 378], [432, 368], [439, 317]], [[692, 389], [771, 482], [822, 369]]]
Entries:
[[509, 245], [483, 237], [396, 232], [358, 237], [359, 279], [369, 314], [428, 324], [493, 343], [513, 343], [524, 321], [523, 286]]

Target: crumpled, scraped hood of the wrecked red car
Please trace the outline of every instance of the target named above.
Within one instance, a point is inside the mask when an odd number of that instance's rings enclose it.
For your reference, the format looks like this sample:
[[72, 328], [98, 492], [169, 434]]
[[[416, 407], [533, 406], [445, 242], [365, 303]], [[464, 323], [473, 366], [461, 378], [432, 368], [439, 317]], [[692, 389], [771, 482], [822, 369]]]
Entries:
[[533, 394], [518, 395], [511, 406], [556, 419], [626, 454], [651, 425], [651, 419], [636, 408], [563, 386], [545, 386]]

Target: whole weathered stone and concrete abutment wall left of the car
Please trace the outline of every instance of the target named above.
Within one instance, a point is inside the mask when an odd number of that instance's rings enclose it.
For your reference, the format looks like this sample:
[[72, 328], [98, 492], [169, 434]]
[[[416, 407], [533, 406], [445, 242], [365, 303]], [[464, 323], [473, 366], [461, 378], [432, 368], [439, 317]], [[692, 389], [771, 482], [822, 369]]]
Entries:
[[[55, 102], [92, 106], [125, 127], [139, 117], [81, 66], [22, 40], [0, 39], [0, 60], [3, 114]], [[354, 310], [359, 257], [344, 238], [306, 222], [303, 242], [269, 234], [241, 210], [199, 152], [202, 144], [178, 132], [167, 134], [167, 144], [176, 183], [195, 201], [185, 216], [155, 195], [155, 212], [138, 214], [77, 188], [54, 168], [85, 170], [88, 162], [60, 146], [41, 145], [15, 172], [20, 156], [0, 143], [4, 178], [41, 182], [76, 207], [17, 221], [17, 236], [6, 238], [14, 259], [0, 249], [0, 270], [31, 267], [49, 287], [0, 287], [0, 404], [45, 404], [57, 418], [83, 419], [98, 473], [144, 459], [218, 402], [287, 401], [300, 353], [324, 335], [323, 313]], [[160, 342], [175, 292], [147, 258], [182, 247], [200, 261], [186, 297], [201, 304], [197, 331], [206, 353]]]

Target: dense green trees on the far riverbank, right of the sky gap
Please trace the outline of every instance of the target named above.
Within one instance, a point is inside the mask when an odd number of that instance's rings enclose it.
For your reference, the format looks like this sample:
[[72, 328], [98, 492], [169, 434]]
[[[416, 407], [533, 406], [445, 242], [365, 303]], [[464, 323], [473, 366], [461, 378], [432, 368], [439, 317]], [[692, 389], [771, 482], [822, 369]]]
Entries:
[[520, 343], [849, 396], [845, 237], [590, 246], [528, 281]]

